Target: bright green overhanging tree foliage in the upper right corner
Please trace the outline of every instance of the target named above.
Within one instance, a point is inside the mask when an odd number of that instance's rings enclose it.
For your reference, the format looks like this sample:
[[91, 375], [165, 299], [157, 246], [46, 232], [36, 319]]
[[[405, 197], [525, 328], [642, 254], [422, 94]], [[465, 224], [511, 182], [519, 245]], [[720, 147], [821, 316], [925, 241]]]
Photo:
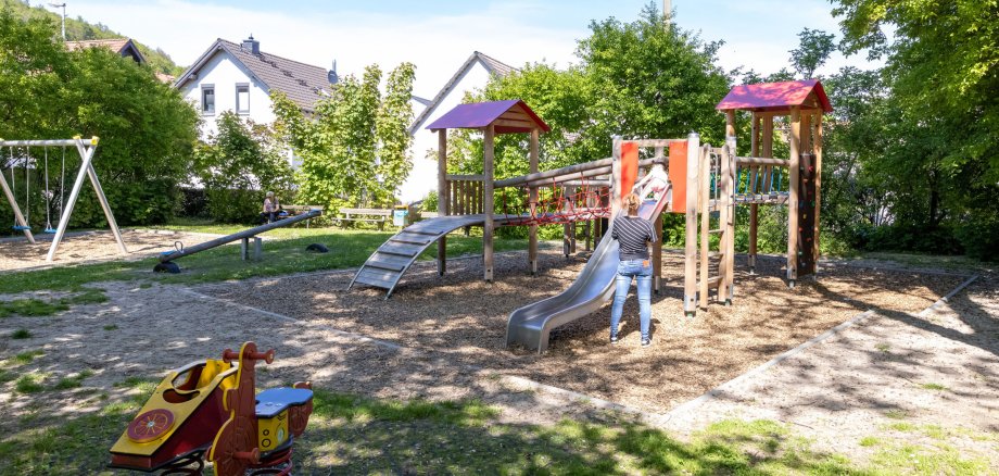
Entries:
[[[999, 181], [999, 2], [838, 0], [847, 53], [887, 60], [893, 92], [921, 117], [963, 125], [941, 158], [979, 167], [978, 185]], [[891, 38], [886, 29], [894, 29]]]

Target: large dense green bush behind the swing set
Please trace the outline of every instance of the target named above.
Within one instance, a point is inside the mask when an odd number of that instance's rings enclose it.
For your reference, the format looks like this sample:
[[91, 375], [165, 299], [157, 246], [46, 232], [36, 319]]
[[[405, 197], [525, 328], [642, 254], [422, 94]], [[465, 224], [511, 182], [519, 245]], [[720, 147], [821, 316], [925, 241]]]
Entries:
[[[0, 137], [7, 139], [101, 138], [93, 167], [121, 225], [165, 221], [177, 208], [177, 184], [190, 170], [191, 145], [198, 115], [180, 93], [160, 83], [148, 66], [137, 65], [110, 50], [88, 48], [67, 52], [51, 18], [22, 20], [0, 11]], [[59, 178], [63, 150], [5, 150], [34, 159], [33, 193], [25, 212], [37, 228], [46, 225], [46, 208], [58, 217], [59, 197], [66, 196], [80, 161], [65, 151], [66, 180]], [[51, 200], [43, 196], [45, 155], [49, 155]], [[16, 173], [25, 175], [23, 167]], [[10, 174], [10, 172], [8, 172]], [[0, 209], [0, 223], [11, 223]], [[74, 209], [71, 227], [105, 226], [103, 212], [89, 184]]]

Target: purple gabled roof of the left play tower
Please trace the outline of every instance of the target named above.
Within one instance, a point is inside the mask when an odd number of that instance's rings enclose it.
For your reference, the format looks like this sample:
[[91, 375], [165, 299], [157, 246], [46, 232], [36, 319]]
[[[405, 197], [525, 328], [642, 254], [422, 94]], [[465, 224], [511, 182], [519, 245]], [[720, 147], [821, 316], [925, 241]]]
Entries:
[[543, 133], [552, 130], [519, 99], [458, 104], [427, 128], [481, 129], [491, 124], [495, 127], [496, 134], [529, 133], [531, 129], [541, 129]]

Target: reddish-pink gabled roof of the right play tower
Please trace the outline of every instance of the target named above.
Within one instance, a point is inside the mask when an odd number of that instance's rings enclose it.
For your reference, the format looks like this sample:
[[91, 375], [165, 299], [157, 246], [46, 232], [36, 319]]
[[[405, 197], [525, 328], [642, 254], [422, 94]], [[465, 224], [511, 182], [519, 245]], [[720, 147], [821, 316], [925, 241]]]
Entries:
[[833, 111], [822, 83], [817, 79], [736, 86], [715, 109], [719, 111], [729, 109], [783, 111], [794, 105], [802, 109], [822, 108], [825, 112]]

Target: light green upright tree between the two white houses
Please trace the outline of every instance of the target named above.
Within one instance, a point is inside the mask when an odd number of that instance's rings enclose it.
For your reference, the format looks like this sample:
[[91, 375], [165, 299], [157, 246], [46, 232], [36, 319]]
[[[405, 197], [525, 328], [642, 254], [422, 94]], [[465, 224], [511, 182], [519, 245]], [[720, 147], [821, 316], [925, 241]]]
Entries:
[[389, 74], [385, 96], [377, 65], [362, 79], [346, 76], [305, 120], [288, 98], [274, 93], [275, 128], [302, 156], [296, 181], [302, 201], [328, 213], [341, 206], [384, 206], [412, 168], [408, 156], [413, 120], [409, 96], [414, 66], [403, 63]]

